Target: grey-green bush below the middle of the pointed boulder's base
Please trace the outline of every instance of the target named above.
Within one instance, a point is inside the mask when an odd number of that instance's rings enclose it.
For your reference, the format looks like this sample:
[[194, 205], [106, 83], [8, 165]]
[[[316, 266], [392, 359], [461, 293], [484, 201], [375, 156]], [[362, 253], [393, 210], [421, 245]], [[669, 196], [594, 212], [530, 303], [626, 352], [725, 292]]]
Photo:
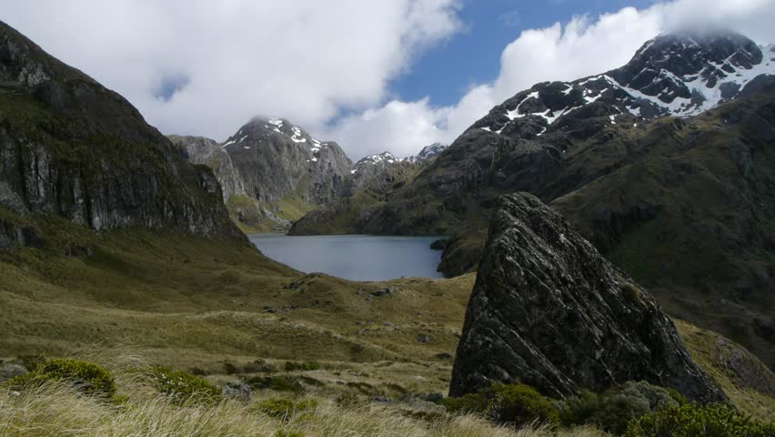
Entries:
[[594, 424], [607, 432], [621, 434], [632, 419], [679, 405], [676, 399], [686, 402], [677, 391], [644, 381], [629, 381], [602, 393], [580, 391], [579, 395], [562, 402], [560, 421], [566, 426]]

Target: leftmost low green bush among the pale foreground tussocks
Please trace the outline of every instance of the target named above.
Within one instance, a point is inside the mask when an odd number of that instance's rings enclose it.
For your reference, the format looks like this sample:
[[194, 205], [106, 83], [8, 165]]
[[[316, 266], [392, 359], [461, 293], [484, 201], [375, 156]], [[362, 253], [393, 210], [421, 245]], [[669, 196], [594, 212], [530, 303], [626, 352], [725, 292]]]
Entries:
[[23, 389], [41, 386], [45, 381], [68, 381], [78, 391], [100, 396], [114, 396], [116, 382], [104, 367], [91, 362], [69, 359], [43, 361], [35, 365], [35, 370], [17, 376], [6, 382], [9, 387]]

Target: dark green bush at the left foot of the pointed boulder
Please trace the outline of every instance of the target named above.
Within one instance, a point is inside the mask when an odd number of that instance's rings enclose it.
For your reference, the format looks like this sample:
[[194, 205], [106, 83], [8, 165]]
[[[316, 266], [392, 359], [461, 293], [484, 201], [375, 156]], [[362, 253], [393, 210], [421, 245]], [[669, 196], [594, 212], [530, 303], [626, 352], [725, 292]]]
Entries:
[[559, 423], [559, 412], [548, 398], [524, 384], [494, 384], [476, 393], [440, 402], [450, 412], [477, 412], [497, 422], [517, 425]]

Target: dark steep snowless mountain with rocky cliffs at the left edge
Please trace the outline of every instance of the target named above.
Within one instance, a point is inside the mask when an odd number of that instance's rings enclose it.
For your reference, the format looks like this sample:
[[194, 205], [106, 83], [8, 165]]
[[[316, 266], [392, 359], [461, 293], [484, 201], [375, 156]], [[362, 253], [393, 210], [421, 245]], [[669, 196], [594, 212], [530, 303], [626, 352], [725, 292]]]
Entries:
[[[0, 23], [0, 191], [6, 243], [22, 216], [244, 240], [213, 173], [186, 162], [126, 99]], [[2, 209], [2, 208], [0, 208]], [[14, 230], [16, 229], [16, 230]], [[29, 229], [27, 237], [29, 237]], [[21, 237], [20, 237], [21, 236]]]

